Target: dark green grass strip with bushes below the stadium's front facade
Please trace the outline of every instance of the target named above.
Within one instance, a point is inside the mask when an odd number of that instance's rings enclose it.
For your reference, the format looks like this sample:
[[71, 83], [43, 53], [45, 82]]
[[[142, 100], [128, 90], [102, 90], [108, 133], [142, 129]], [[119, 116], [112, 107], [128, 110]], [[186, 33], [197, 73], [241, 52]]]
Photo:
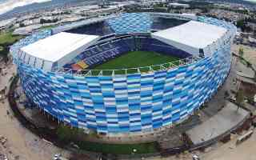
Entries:
[[136, 150], [136, 154], [149, 154], [158, 152], [157, 142], [147, 142], [138, 144], [106, 144], [100, 142], [89, 142], [90, 138], [98, 136], [96, 132], [90, 134], [83, 133], [82, 129], [69, 126], [58, 126], [56, 135], [59, 142], [63, 146], [68, 146], [70, 142], [74, 142], [81, 150], [94, 151], [104, 154], [131, 154]]

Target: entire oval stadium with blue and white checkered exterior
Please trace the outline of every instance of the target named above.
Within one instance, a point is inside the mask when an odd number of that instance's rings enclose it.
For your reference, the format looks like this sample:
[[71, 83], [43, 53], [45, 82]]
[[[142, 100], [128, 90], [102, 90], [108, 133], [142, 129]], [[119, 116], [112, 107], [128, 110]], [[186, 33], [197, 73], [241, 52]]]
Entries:
[[42, 30], [11, 46], [26, 98], [104, 134], [189, 118], [230, 71], [236, 27], [194, 14], [127, 13]]

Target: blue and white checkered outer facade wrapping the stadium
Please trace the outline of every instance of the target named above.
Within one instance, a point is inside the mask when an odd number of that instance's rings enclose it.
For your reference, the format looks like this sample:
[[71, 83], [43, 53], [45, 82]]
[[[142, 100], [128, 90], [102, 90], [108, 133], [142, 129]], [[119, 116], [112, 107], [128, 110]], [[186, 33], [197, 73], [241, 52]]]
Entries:
[[[218, 22], [211, 18], [199, 21]], [[38, 35], [15, 44], [12, 51], [45, 38], [50, 32]], [[55, 118], [98, 132], [138, 132], [182, 121], [209, 99], [229, 73], [230, 43], [212, 57], [144, 74], [81, 77], [45, 72], [15, 58], [14, 61], [27, 97]]]

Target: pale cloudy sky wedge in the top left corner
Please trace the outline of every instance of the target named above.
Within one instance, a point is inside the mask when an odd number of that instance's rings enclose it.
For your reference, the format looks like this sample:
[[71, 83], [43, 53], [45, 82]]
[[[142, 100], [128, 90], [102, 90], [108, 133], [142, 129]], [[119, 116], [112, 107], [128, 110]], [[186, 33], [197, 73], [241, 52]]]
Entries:
[[51, 0], [0, 0], [0, 14], [13, 10], [18, 6], [26, 6], [34, 2], [48, 2]]

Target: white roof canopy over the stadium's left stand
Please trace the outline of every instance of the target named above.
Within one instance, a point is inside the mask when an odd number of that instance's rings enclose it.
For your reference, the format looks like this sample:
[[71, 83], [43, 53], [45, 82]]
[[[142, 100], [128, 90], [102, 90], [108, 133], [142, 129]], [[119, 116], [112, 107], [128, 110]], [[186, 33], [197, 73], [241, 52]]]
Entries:
[[[78, 54], [81, 54], [83, 50], [97, 41], [98, 38], [99, 36], [95, 35], [61, 32], [24, 46], [21, 50], [26, 54], [23, 59], [27, 64], [37, 66], [38, 62], [42, 63], [41, 61], [44, 61], [52, 66], [54, 62], [57, 62], [58, 67], [61, 67]], [[28, 62], [31, 59], [28, 57], [35, 58], [38, 62]], [[42, 69], [51, 70], [51, 66], [42, 66]]]

